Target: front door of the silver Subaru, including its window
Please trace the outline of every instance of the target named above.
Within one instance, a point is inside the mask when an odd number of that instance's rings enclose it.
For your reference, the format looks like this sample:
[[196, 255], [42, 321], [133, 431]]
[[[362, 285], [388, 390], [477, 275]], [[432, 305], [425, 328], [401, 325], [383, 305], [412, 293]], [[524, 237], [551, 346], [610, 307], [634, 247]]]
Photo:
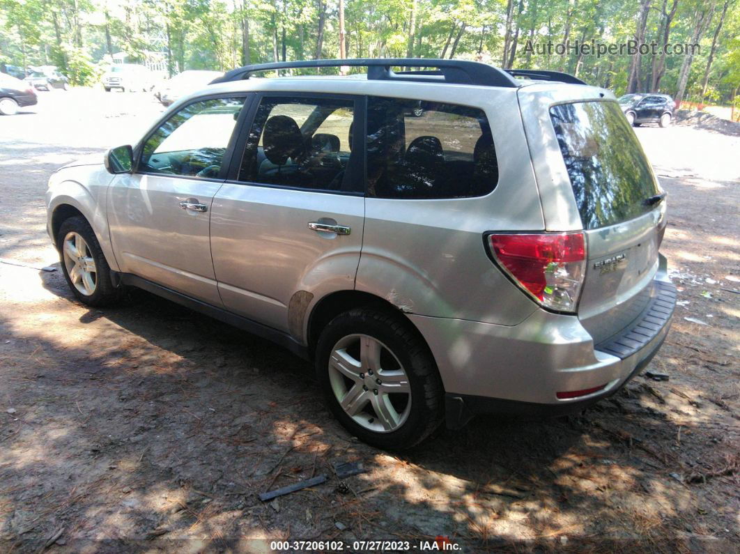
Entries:
[[209, 225], [243, 101], [210, 98], [183, 107], [149, 135], [135, 172], [113, 180], [108, 217], [121, 271], [221, 305]]

